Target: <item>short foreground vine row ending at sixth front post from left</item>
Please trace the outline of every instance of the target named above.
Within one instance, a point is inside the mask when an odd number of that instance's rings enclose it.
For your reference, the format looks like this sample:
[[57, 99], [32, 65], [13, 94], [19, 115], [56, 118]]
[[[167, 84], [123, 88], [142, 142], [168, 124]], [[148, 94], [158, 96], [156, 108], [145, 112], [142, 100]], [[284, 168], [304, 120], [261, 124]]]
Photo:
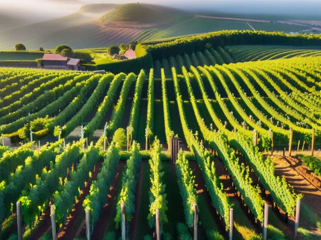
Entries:
[[179, 150], [175, 163], [175, 171], [178, 179], [179, 193], [183, 199], [184, 215], [188, 227], [193, 227], [194, 223], [194, 206], [197, 204], [195, 191], [195, 176], [189, 167], [188, 160], [182, 149]]

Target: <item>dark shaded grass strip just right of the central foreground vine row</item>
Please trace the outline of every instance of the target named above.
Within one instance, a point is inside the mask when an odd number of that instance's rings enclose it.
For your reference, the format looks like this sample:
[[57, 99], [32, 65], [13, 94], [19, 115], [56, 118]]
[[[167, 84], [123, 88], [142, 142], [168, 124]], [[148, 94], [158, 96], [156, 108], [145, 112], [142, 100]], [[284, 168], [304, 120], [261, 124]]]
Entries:
[[185, 222], [183, 200], [179, 194], [179, 188], [175, 172], [171, 170], [170, 162], [162, 162], [164, 175], [163, 184], [166, 185], [166, 200], [168, 201], [166, 215], [168, 223], [163, 223], [164, 232], [170, 233], [174, 239], [178, 239], [176, 226], [179, 222]]

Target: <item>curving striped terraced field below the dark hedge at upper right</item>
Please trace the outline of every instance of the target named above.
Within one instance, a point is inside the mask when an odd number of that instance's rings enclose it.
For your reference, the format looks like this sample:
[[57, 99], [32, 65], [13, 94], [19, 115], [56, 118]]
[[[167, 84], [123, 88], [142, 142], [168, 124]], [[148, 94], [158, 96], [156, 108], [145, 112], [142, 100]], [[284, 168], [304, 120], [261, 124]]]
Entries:
[[239, 45], [225, 47], [225, 50], [232, 56], [234, 62], [321, 56], [319, 47]]

